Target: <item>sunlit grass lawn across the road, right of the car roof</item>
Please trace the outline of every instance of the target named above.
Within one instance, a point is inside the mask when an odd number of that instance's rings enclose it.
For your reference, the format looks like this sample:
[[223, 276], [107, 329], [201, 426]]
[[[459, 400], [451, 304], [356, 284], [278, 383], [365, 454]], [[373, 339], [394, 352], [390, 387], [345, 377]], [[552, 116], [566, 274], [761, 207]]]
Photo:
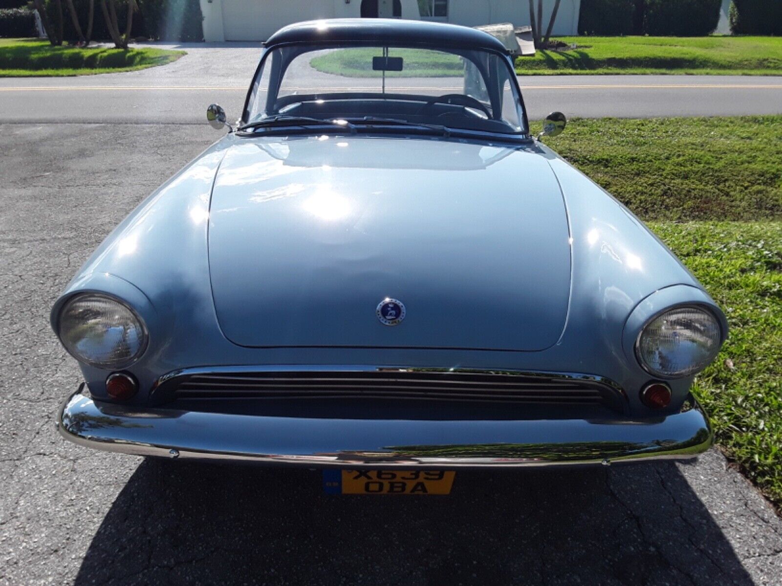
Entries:
[[780, 37], [561, 37], [569, 51], [516, 59], [518, 73], [782, 75]]

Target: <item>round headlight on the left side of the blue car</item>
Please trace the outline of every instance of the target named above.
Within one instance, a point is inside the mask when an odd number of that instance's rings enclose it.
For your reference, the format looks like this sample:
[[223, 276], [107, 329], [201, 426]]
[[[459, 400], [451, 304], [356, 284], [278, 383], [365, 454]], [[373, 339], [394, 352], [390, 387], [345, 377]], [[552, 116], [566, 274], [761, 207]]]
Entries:
[[76, 295], [59, 314], [58, 334], [75, 359], [116, 370], [144, 353], [147, 331], [135, 312], [117, 299], [97, 293]]

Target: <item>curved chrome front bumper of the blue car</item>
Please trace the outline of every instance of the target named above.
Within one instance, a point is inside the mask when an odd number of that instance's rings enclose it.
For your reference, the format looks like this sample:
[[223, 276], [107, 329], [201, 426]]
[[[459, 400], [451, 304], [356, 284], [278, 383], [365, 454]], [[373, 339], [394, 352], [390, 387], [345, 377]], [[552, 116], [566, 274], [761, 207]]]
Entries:
[[317, 419], [138, 409], [79, 391], [57, 417], [63, 438], [139, 456], [271, 465], [506, 467], [687, 458], [712, 445], [694, 398], [650, 420]]

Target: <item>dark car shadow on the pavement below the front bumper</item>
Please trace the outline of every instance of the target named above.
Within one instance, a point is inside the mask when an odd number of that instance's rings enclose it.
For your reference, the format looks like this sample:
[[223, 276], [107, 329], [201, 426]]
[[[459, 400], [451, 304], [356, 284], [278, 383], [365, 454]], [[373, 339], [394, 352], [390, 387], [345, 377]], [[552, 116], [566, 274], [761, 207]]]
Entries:
[[673, 463], [458, 471], [330, 496], [314, 470], [145, 460], [76, 584], [752, 584]]

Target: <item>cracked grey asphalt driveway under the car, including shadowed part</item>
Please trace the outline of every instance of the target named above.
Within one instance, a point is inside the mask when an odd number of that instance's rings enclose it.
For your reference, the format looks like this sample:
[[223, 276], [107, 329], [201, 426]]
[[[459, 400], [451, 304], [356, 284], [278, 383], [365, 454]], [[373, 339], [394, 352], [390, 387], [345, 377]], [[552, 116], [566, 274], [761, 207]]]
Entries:
[[200, 152], [204, 126], [0, 126], [0, 584], [779, 584], [782, 521], [697, 463], [459, 472], [442, 498], [327, 497], [317, 473], [59, 439], [80, 380], [48, 309]]

